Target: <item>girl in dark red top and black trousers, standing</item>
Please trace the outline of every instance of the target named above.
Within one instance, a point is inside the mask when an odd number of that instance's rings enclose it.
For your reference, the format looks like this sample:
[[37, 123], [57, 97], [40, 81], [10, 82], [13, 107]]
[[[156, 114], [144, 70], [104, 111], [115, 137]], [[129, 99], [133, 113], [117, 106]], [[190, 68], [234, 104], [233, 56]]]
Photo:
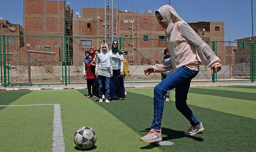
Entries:
[[[93, 58], [90, 55], [88, 57], [89, 62], [85, 64], [85, 79], [87, 80], [87, 89], [88, 89], [88, 95], [87, 97], [97, 97], [96, 96], [96, 81], [95, 81], [95, 67], [91, 66], [90, 63], [92, 62]], [[91, 92], [92, 89], [92, 92]]]

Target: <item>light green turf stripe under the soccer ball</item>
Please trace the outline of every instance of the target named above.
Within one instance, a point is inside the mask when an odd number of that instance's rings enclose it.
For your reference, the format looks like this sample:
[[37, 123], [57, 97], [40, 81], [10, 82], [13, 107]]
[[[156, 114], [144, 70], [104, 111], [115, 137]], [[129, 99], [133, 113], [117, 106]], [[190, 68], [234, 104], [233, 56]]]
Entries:
[[[77, 152], [73, 137], [75, 131], [82, 126], [92, 127], [97, 134], [96, 147], [91, 151], [161, 151], [157, 147], [141, 149], [148, 143], [141, 142], [136, 132], [77, 90], [32, 91], [12, 104], [56, 103], [61, 106], [65, 150], [68, 152]], [[51, 114], [53, 116], [53, 111]], [[120, 110], [120, 114], [124, 113]], [[52, 132], [52, 126], [50, 129]]]

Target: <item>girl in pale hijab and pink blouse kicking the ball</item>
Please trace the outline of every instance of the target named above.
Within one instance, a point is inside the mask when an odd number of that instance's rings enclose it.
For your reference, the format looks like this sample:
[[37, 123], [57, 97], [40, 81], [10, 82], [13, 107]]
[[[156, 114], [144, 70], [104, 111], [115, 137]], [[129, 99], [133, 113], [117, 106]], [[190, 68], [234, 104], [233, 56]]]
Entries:
[[195, 135], [204, 130], [202, 122], [196, 118], [186, 102], [190, 82], [198, 74], [199, 65], [202, 63], [200, 57], [202, 57], [204, 65], [211, 68], [212, 74], [221, 69], [219, 58], [170, 5], [160, 7], [155, 13], [158, 23], [166, 29], [165, 34], [171, 60], [148, 67], [144, 73], [148, 76], [153, 72], [161, 73], [171, 69], [174, 72], [154, 88], [153, 123], [149, 133], [141, 138], [141, 141], [149, 143], [162, 140], [161, 121], [164, 95], [168, 90], [174, 88], [176, 108], [191, 124], [185, 135]]

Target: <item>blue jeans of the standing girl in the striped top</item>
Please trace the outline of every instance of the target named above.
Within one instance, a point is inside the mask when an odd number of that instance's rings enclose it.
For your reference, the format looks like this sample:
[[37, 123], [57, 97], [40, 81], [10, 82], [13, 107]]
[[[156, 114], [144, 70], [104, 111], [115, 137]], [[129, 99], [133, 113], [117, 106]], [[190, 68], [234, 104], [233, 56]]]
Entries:
[[109, 98], [110, 77], [98, 75], [99, 98], [102, 99], [103, 84], [105, 83], [105, 98]]

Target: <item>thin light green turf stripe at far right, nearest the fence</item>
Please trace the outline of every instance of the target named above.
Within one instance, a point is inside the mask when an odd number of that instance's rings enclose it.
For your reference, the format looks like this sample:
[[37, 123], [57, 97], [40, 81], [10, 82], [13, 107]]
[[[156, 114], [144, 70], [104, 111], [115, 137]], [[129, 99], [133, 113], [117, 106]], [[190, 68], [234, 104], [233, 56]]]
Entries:
[[[242, 86], [244, 87], [244, 86]], [[216, 87], [212, 87], [212, 86], [204, 86], [204, 87], [196, 87], [196, 88], [206, 88], [206, 89], [213, 89], [213, 90], [227, 90], [227, 91], [237, 91], [237, 92], [248, 92], [248, 93], [256, 93], [256, 89], [252, 89], [252, 88], [239, 88], [239, 87], [222, 87], [222, 86], [216, 86]]]

